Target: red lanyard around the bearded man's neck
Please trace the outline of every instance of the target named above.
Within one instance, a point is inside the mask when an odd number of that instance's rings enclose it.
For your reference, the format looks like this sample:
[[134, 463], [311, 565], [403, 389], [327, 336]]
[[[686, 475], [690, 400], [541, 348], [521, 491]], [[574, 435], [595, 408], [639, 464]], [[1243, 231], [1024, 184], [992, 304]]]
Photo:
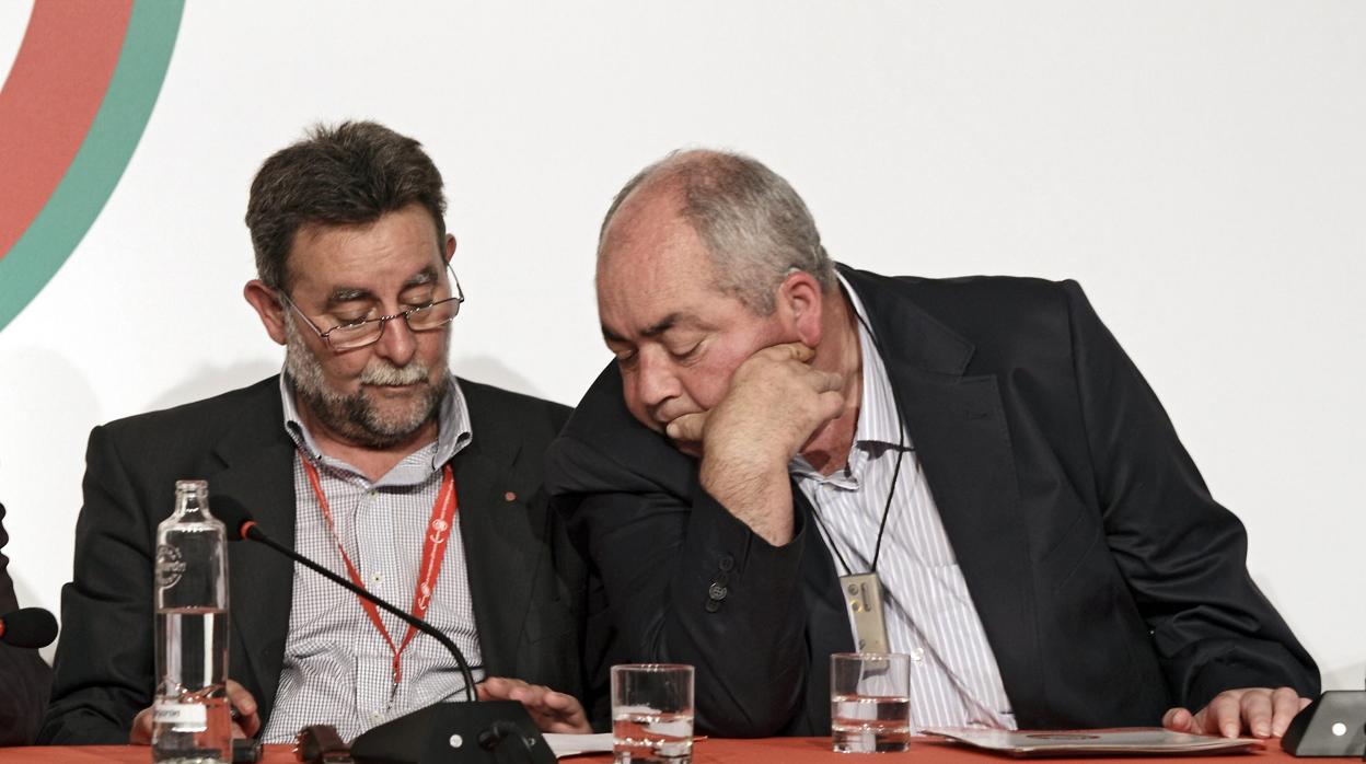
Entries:
[[[302, 452], [299, 454], [299, 461], [303, 462], [303, 472], [309, 474], [309, 482], [313, 484], [313, 493], [318, 497], [318, 506], [322, 507], [322, 517], [328, 519], [328, 530], [332, 532], [332, 540], [337, 543], [337, 551], [342, 552], [342, 562], [346, 563], [346, 571], [351, 577], [351, 582], [365, 589], [361, 571], [351, 563], [350, 555], [346, 554], [346, 547], [342, 545], [342, 538], [337, 537], [336, 525], [332, 522], [332, 507], [328, 506], [328, 497], [322, 495], [322, 484], [318, 481], [317, 467]], [[441, 560], [445, 559], [444, 552], [445, 543], [449, 538], [451, 521], [455, 518], [458, 508], [455, 500], [455, 473], [451, 472], [451, 465], [447, 465], [441, 472], [441, 489], [436, 495], [436, 503], [432, 504], [432, 519], [428, 521], [426, 529], [422, 530], [422, 564], [418, 569], [417, 586], [413, 588], [411, 612], [414, 618], [426, 616], [426, 608], [432, 604], [432, 593], [436, 592], [436, 581], [441, 574]], [[393, 653], [393, 690], [396, 692], [399, 682], [403, 679], [403, 651], [407, 649], [408, 642], [413, 641], [413, 636], [418, 630], [410, 625], [408, 633], [403, 636], [403, 642], [395, 645], [393, 637], [389, 636], [384, 620], [380, 619], [380, 608], [365, 597], [357, 596], [357, 600], [365, 608], [365, 614], [370, 616], [370, 623], [374, 623], [380, 636], [389, 644], [389, 652]]]

